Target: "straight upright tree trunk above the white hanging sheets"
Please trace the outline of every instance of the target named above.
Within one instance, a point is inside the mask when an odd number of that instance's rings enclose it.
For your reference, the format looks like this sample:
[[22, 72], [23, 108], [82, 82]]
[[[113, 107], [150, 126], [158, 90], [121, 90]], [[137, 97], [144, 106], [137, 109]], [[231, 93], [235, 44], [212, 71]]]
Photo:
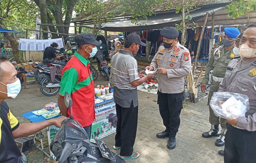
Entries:
[[[39, 8], [40, 8], [40, 17], [41, 23], [48, 23], [47, 21], [47, 12], [46, 12], [46, 0], [39, 0]], [[48, 39], [48, 26], [42, 25], [43, 30], [43, 39]]]

